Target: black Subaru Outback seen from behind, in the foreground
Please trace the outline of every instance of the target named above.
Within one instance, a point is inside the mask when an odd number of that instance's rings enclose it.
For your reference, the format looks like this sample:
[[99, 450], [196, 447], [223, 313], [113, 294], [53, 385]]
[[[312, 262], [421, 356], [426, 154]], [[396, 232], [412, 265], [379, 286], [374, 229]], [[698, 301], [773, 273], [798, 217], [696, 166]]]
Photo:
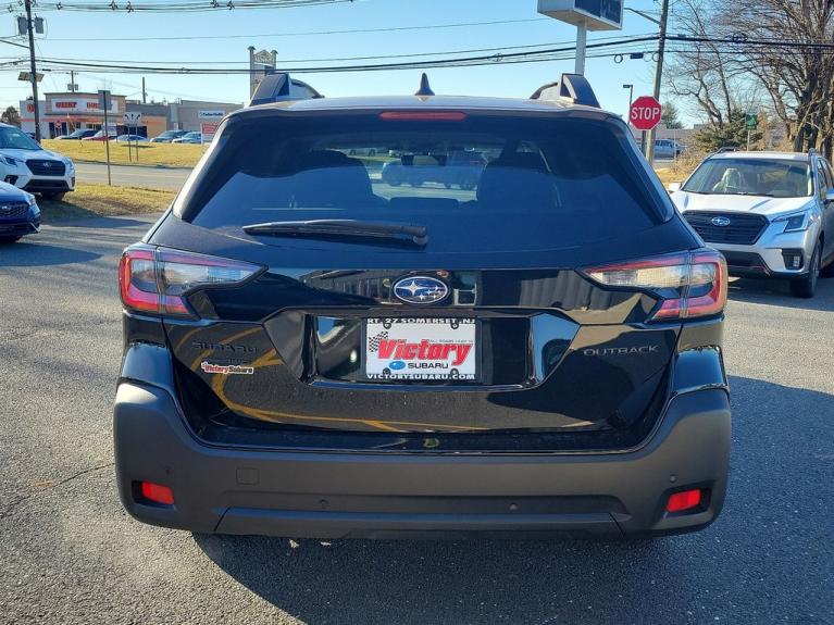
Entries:
[[[120, 264], [128, 512], [319, 538], [711, 523], [726, 267], [583, 80], [226, 117]], [[371, 147], [496, 157], [476, 190], [404, 188], [349, 155]]]

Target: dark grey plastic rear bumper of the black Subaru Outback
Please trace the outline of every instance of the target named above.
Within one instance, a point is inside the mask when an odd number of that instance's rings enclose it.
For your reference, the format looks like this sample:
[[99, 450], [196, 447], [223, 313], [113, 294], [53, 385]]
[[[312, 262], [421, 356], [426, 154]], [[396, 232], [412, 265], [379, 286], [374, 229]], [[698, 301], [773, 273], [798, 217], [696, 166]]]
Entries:
[[[589, 454], [262, 451], [197, 440], [171, 395], [122, 383], [114, 412], [122, 502], [137, 520], [198, 533], [297, 538], [673, 534], [710, 524], [724, 500], [730, 403], [723, 389], [674, 399], [639, 449]], [[142, 503], [137, 482], [170, 486]], [[668, 496], [708, 489], [692, 513]]]

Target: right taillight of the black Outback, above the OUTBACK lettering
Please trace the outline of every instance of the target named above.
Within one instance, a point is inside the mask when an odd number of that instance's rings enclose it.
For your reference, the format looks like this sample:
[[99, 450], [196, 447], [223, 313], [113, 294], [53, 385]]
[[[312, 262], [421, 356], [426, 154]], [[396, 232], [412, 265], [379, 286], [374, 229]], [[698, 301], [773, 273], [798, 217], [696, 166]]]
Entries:
[[719, 314], [726, 304], [726, 262], [715, 250], [640, 259], [582, 272], [607, 287], [646, 290], [660, 305], [649, 321]]

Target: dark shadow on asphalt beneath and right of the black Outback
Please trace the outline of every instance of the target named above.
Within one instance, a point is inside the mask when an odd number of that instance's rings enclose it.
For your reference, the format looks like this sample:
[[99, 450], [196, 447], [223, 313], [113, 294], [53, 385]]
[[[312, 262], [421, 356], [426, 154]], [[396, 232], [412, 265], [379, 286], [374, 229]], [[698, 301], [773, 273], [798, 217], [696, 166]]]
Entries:
[[834, 474], [834, 397], [731, 384], [730, 493], [701, 533], [295, 548], [281, 538], [194, 539], [239, 584], [310, 624], [825, 622], [820, 580], [830, 578], [834, 524], [821, 493]]

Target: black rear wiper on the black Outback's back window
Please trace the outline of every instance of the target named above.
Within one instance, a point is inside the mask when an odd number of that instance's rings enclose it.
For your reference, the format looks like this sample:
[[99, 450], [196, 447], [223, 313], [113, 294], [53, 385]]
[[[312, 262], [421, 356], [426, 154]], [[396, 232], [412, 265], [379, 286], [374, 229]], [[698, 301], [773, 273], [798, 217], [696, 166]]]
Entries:
[[287, 237], [363, 238], [400, 240], [415, 246], [428, 242], [425, 226], [394, 222], [363, 222], [360, 220], [309, 220], [299, 222], [266, 222], [244, 226], [247, 235]]

